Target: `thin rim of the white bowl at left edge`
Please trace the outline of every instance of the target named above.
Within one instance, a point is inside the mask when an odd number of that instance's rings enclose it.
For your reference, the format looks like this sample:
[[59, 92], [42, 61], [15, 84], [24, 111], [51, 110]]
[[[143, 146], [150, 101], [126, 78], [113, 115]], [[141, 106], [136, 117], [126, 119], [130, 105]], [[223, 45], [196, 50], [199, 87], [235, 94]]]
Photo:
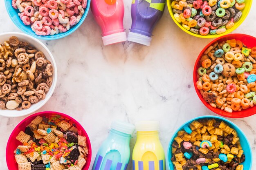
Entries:
[[[46, 51], [47, 53], [49, 54], [50, 58], [52, 59], [52, 64], [54, 66], [54, 82], [52, 82], [52, 91], [48, 91], [48, 93], [46, 94], [46, 97], [45, 99], [43, 99], [43, 103], [38, 105], [36, 108], [32, 109], [29, 111], [29, 108], [27, 109], [28, 111], [23, 113], [23, 114], [17, 114], [17, 115], [6, 115], [4, 114], [4, 112], [0, 112], [0, 116], [4, 116], [4, 117], [20, 117], [20, 116], [25, 116], [25, 115], [29, 115], [30, 113], [33, 113], [35, 112], [36, 110], [40, 109], [41, 107], [43, 107], [46, 102], [48, 102], [48, 100], [52, 97], [52, 94], [54, 93], [54, 90], [55, 90], [55, 87], [56, 87], [56, 84], [57, 84], [57, 78], [58, 78], [58, 71], [57, 71], [57, 65], [56, 65], [56, 62], [54, 60], [54, 57], [51, 53], [51, 51], [49, 51], [49, 49], [47, 48], [47, 46], [45, 46], [45, 44], [43, 44], [42, 42], [40, 42], [38, 39], [34, 38], [33, 36], [31, 35], [28, 35], [28, 34], [25, 34], [25, 33], [18, 33], [18, 32], [7, 32], [7, 33], [0, 33], [0, 37], [2, 35], [10, 35], [11, 36], [19, 36], [19, 35], [22, 35], [22, 36], [25, 36], [26, 38], [28, 39], [33, 39], [35, 40], [40, 46], [42, 46]], [[19, 37], [18, 37], [19, 38]], [[16, 111], [18, 113], [18, 110], [13, 110], [14, 112]]]

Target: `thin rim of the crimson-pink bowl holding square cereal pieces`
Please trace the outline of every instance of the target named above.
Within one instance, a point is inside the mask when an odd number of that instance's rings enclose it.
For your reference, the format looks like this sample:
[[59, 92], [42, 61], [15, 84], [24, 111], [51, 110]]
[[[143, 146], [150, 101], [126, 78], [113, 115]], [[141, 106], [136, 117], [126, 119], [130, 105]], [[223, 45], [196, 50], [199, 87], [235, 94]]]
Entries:
[[[83, 126], [82, 126], [78, 121], [76, 121], [76, 119], [74, 119], [74, 118], [72, 118], [71, 116], [66, 115], [66, 114], [64, 114], [64, 113], [55, 112], [55, 111], [42, 111], [42, 112], [34, 113], [34, 114], [32, 114], [32, 115], [30, 115], [30, 116], [24, 118], [24, 119], [23, 119], [22, 121], [20, 121], [20, 123], [13, 129], [13, 131], [11, 132], [11, 134], [10, 134], [10, 136], [9, 136], [9, 139], [8, 139], [8, 141], [7, 141], [6, 151], [5, 151], [5, 161], [6, 161], [7, 167], [8, 167], [8, 165], [9, 165], [9, 163], [7, 163], [7, 155], [9, 154], [9, 152], [8, 152], [8, 150], [7, 150], [7, 147], [9, 146], [9, 143], [11, 142], [11, 137], [13, 136], [14, 131], [15, 131], [16, 128], [18, 128], [21, 124], [23, 124], [25, 121], [27, 121], [27, 119], [29, 119], [29, 118], [31, 118], [31, 117], [34, 117], [34, 116], [39, 116], [39, 115], [42, 115], [42, 114], [50, 114], [50, 115], [56, 114], [56, 115], [61, 115], [61, 116], [63, 116], [63, 117], [66, 117], [66, 118], [72, 120], [75, 124], [78, 124], [78, 125], [80, 125], [80, 126], [83, 128]], [[86, 160], [86, 163], [88, 162], [88, 164], [89, 164], [89, 166], [88, 166], [88, 169], [89, 169], [89, 168], [90, 168], [91, 161], [92, 161], [92, 144], [91, 144], [91, 142], [90, 142], [90, 138], [89, 138], [89, 136], [88, 136], [86, 130], [85, 130], [84, 128], [83, 128], [83, 130], [85, 131], [85, 136], [86, 136], [86, 138], [87, 138], [86, 141], [87, 141], [87, 144], [89, 145], [89, 150], [90, 150], [90, 152], [89, 152], [90, 154], [88, 154], [89, 157], [88, 157], [87, 160]], [[8, 169], [9, 169], [9, 167], [8, 167]]]

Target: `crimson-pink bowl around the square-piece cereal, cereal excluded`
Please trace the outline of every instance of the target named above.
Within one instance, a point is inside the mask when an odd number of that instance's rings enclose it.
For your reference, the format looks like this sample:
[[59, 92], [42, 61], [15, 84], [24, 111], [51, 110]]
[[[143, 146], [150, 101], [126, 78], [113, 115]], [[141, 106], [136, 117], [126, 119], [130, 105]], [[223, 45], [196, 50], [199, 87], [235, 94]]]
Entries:
[[15, 139], [16, 136], [18, 135], [18, 133], [20, 132], [20, 130], [24, 131], [26, 126], [37, 116], [47, 116], [49, 114], [50, 115], [61, 115], [65, 118], [67, 118], [67, 119], [70, 119], [76, 125], [76, 128], [81, 130], [82, 135], [87, 138], [86, 142], [87, 142], [87, 146], [88, 146], [89, 151], [88, 151], [85, 166], [83, 167], [82, 170], [88, 170], [89, 169], [91, 159], [92, 159], [92, 146], [91, 146], [91, 143], [90, 143], [90, 139], [89, 139], [87, 133], [85, 132], [83, 126], [81, 126], [81, 124], [79, 124], [78, 121], [76, 121], [72, 117], [70, 117], [68, 115], [65, 115], [63, 113], [58, 113], [58, 112], [53, 112], [53, 111], [45, 111], [45, 112], [35, 113], [35, 114], [30, 115], [29, 117], [25, 118], [11, 132], [11, 135], [9, 137], [9, 140], [7, 142], [7, 147], [6, 147], [6, 163], [7, 163], [7, 166], [8, 166], [9, 170], [18, 170], [18, 163], [16, 163], [16, 161], [15, 161], [15, 157], [14, 157], [13, 152], [18, 147], [18, 145], [21, 144], [20, 141]]

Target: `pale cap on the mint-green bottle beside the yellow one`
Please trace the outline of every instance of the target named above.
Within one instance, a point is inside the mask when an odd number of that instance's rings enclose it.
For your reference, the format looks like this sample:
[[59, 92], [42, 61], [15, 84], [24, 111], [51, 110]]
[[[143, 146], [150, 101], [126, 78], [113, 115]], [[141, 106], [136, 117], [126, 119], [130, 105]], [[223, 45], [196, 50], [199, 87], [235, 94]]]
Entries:
[[135, 126], [133, 124], [128, 124], [123, 121], [112, 121], [112, 124], [110, 127], [114, 130], [129, 134], [129, 135], [132, 135], [135, 130]]

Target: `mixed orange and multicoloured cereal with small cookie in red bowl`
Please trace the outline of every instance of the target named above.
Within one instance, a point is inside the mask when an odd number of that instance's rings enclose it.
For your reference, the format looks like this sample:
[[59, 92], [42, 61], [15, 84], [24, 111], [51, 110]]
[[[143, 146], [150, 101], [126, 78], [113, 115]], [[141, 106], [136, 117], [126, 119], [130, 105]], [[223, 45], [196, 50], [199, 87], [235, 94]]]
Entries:
[[240, 40], [210, 46], [200, 59], [196, 86], [204, 100], [228, 113], [256, 104], [256, 47]]

